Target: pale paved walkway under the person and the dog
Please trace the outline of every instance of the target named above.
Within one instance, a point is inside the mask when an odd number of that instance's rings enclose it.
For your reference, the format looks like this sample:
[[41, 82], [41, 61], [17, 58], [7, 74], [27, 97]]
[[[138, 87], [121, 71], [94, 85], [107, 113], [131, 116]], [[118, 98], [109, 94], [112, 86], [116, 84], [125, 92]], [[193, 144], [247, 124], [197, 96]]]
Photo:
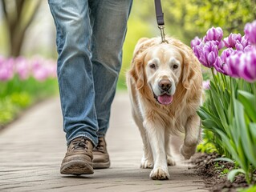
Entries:
[[0, 191], [207, 191], [185, 165], [169, 167], [170, 179], [165, 181], [152, 180], [150, 169], [140, 169], [140, 133], [127, 94], [116, 95], [110, 125], [111, 168], [65, 176], [59, 174], [66, 153], [59, 98], [32, 107], [0, 132]]

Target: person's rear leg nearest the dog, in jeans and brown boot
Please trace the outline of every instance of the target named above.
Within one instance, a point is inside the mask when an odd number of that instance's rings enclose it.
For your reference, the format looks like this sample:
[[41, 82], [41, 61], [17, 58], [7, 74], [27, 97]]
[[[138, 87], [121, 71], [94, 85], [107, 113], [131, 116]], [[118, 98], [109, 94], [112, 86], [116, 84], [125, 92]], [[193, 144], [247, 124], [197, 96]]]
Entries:
[[91, 6], [91, 52], [95, 84], [95, 108], [99, 145], [94, 150], [94, 167], [110, 166], [104, 136], [122, 62], [122, 47], [132, 0], [89, 1]]

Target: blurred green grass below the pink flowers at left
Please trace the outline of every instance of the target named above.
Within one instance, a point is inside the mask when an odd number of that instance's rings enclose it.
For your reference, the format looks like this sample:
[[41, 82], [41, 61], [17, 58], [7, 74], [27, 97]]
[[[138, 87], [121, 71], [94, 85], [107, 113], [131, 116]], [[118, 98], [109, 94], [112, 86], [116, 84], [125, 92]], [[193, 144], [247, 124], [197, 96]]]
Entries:
[[58, 93], [56, 79], [38, 82], [35, 78], [26, 81], [14, 77], [9, 82], [0, 82], [0, 128], [18, 117], [27, 107]]

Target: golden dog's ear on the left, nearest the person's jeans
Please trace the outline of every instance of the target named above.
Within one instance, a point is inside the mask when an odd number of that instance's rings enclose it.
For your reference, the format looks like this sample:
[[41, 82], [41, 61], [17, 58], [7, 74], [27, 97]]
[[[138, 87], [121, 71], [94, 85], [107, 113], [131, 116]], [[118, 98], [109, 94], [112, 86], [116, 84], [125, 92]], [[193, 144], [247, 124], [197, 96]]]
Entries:
[[132, 69], [130, 74], [136, 82], [136, 89], [140, 90], [144, 86], [144, 54], [139, 54], [132, 59]]

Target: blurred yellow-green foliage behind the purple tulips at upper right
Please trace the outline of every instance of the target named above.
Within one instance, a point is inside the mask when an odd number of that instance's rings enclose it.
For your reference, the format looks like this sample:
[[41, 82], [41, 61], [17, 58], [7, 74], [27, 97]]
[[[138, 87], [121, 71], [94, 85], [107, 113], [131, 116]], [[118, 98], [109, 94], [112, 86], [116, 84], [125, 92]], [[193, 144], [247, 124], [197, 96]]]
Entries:
[[224, 34], [241, 33], [246, 22], [256, 18], [256, 0], [169, 0], [162, 1], [165, 22], [189, 42], [202, 37], [212, 26], [220, 26]]

